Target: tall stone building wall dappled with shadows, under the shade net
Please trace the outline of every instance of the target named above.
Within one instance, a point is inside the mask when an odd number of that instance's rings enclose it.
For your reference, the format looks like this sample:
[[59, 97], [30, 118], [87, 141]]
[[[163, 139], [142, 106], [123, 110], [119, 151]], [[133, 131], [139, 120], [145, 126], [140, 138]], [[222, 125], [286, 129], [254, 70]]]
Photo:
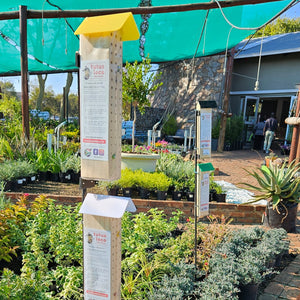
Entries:
[[159, 65], [160, 86], [151, 99], [152, 106], [174, 113], [179, 127], [194, 122], [195, 103], [215, 100], [222, 107], [224, 55], [214, 55]]

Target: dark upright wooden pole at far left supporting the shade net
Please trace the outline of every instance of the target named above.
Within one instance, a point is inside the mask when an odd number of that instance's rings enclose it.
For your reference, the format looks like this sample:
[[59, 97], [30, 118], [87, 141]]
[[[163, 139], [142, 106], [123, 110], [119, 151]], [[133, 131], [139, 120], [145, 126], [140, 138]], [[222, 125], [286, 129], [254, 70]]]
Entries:
[[20, 48], [21, 48], [21, 100], [22, 125], [26, 139], [30, 138], [28, 105], [28, 51], [27, 51], [27, 7], [20, 6]]

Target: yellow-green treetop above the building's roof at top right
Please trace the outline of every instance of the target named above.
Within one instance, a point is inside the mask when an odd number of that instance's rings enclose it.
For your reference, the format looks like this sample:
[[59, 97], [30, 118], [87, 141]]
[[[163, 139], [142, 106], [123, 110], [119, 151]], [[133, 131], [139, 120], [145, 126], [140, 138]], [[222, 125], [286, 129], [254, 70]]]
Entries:
[[300, 31], [300, 18], [279, 18], [258, 30], [253, 37], [270, 36], [297, 31]]

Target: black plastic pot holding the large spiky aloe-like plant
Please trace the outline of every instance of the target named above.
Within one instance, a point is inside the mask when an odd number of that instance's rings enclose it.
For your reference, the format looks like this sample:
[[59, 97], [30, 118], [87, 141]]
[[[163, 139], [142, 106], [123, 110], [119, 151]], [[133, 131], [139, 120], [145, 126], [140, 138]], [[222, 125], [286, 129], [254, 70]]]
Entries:
[[282, 205], [279, 203], [277, 207], [278, 209], [273, 209], [272, 204], [267, 203], [263, 224], [271, 228], [283, 228], [287, 232], [295, 232], [298, 204], [287, 202]]

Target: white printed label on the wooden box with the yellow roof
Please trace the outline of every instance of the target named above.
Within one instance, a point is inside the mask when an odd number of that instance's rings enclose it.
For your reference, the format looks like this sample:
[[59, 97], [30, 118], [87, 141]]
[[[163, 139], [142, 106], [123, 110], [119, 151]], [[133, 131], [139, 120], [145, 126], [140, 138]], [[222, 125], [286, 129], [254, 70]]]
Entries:
[[81, 61], [80, 136], [82, 159], [108, 161], [109, 61]]

